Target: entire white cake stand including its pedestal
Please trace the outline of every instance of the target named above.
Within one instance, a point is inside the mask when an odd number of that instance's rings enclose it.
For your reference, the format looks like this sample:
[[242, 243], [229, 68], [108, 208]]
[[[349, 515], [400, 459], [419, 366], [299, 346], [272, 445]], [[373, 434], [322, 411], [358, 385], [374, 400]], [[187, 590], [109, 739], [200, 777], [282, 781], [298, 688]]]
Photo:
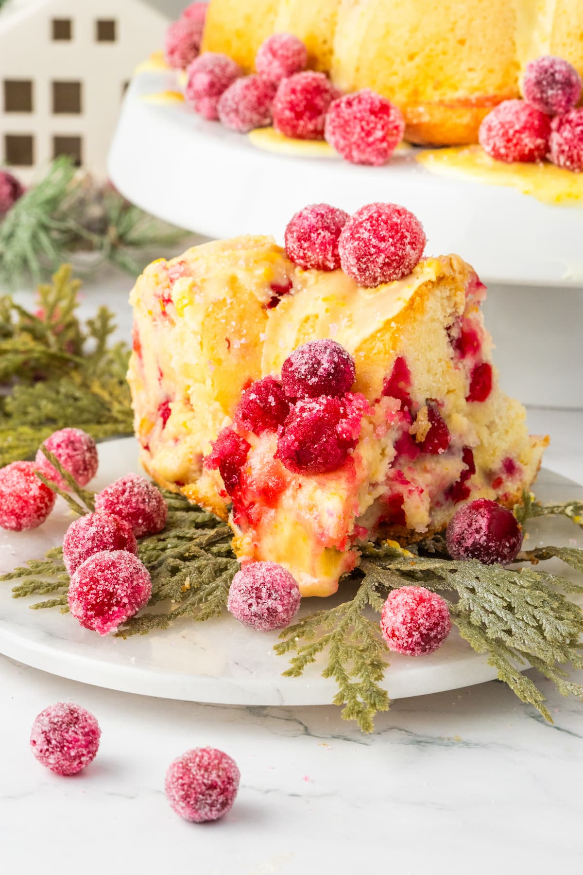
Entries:
[[404, 204], [423, 222], [428, 253], [459, 253], [489, 284], [489, 330], [510, 394], [583, 407], [583, 208], [434, 175], [413, 151], [382, 168], [263, 151], [184, 103], [149, 99], [177, 88], [163, 71], [138, 73], [128, 88], [108, 166], [129, 200], [209, 237], [279, 242], [309, 203], [349, 212], [375, 200]]

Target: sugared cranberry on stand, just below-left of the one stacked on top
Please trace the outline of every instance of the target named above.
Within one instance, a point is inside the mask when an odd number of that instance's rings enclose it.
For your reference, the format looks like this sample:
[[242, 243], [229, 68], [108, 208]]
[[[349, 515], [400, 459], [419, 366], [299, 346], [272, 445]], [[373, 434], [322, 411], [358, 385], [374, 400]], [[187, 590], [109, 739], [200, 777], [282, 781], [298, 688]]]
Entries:
[[236, 79], [220, 95], [219, 119], [229, 130], [246, 134], [271, 124], [271, 108], [277, 86], [270, 79], [253, 74]]

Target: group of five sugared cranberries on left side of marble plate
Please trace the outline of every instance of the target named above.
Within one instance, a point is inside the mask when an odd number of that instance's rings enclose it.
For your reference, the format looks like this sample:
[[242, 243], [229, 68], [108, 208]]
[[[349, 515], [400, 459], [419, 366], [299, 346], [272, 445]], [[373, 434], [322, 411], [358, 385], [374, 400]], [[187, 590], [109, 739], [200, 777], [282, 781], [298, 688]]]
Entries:
[[[94, 478], [97, 448], [85, 431], [55, 431], [44, 445], [79, 486]], [[41, 450], [35, 462], [6, 465], [0, 470], [2, 528], [37, 528], [51, 513], [56, 494], [37, 472], [59, 489], [67, 488]], [[63, 540], [63, 561], [71, 575], [69, 608], [81, 626], [106, 635], [148, 604], [152, 584], [136, 556], [135, 539], [161, 531], [167, 514], [159, 489], [137, 474], [128, 474], [95, 495], [94, 514], [71, 523]]]

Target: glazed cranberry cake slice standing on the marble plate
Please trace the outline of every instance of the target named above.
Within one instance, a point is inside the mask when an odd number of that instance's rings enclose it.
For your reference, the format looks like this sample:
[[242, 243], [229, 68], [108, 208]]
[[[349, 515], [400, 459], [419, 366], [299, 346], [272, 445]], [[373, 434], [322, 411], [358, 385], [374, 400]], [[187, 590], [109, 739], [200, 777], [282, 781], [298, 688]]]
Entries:
[[[376, 288], [301, 269], [264, 236], [153, 262], [131, 294], [142, 463], [303, 595], [336, 591], [359, 543], [439, 531], [468, 499], [511, 507], [546, 439], [498, 384], [484, 295], [457, 255]], [[340, 362], [337, 388], [290, 402], [314, 361]]]

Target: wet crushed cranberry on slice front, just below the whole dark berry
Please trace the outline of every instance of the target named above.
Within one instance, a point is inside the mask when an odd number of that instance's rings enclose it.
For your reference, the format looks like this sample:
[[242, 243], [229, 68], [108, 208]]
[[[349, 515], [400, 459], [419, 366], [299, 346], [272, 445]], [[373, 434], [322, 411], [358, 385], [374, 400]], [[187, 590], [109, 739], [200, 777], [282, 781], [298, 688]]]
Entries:
[[302, 398], [283, 423], [275, 458], [296, 474], [323, 474], [343, 465], [357, 445], [367, 408], [362, 395]]

